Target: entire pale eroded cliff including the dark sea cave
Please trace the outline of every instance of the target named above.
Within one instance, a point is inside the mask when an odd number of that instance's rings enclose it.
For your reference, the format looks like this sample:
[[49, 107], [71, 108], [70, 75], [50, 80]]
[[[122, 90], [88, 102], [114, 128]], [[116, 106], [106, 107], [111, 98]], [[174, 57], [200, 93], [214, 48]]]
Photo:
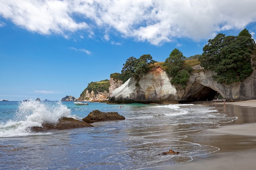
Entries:
[[[256, 71], [243, 82], [233, 84], [218, 83], [213, 80], [214, 71], [201, 70], [191, 73], [186, 88], [177, 90], [165, 71], [160, 67], [140, 77], [139, 82], [134, 78], [128, 79], [109, 97], [109, 102], [180, 102], [196, 100], [212, 100], [217, 93], [227, 101], [235, 102], [256, 99]], [[139, 86], [136, 86], [136, 83]]]

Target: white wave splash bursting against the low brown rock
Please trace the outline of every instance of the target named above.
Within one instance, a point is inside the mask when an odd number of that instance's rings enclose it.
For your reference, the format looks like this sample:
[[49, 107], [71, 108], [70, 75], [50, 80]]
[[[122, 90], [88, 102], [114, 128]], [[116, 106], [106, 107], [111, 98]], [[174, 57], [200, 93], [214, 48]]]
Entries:
[[30, 127], [43, 123], [57, 123], [61, 117], [69, 117], [70, 109], [58, 102], [51, 105], [47, 102], [21, 102], [15, 120], [0, 124], [0, 137], [15, 137], [33, 135]]

